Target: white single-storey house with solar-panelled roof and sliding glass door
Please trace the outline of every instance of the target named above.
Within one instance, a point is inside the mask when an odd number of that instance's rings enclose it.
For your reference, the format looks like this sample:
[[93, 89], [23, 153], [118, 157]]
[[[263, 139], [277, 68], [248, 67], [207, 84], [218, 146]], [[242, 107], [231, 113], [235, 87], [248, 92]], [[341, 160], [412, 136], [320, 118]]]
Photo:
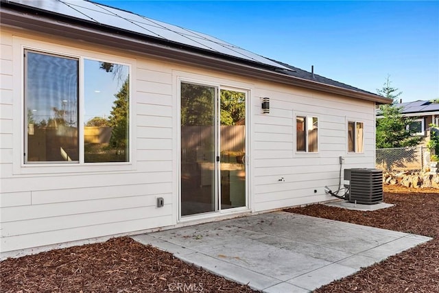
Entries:
[[1, 257], [332, 198], [390, 99], [89, 1], [1, 1]]

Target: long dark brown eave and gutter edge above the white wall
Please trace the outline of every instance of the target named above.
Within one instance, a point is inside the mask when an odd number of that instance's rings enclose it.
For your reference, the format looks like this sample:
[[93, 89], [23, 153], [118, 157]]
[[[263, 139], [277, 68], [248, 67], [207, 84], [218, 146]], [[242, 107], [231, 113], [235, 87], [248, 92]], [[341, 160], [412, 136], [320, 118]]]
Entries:
[[[3, 2], [4, 3], [4, 2]], [[3, 4], [2, 3], [2, 4]], [[312, 89], [335, 95], [342, 95], [355, 99], [363, 99], [377, 104], [391, 104], [392, 99], [387, 99], [372, 93], [363, 93], [350, 89], [343, 89], [338, 86], [323, 84], [311, 80], [297, 78], [284, 73], [274, 71], [273, 68], [259, 64], [243, 62], [237, 58], [230, 58], [222, 54], [206, 54], [200, 50], [178, 45], [175, 43], [163, 43], [149, 38], [130, 34], [115, 28], [99, 27], [80, 21], [69, 21], [55, 17], [30, 14], [20, 10], [0, 8], [0, 23], [5, 27], [13, 27], [31, 32], [41, 32], [53, 36], [82, 40], [88, 43], [106, 45], [117, 49], [132, 51], [135, 54], [154, 56], [174, 62], [182, 62], [187, 65], [197, 65], [206, 69], [222, 71], [224, 73], [235, 73], [248, 78], [257, 78], [269, 82], [278, 82], [290, 86], [299, 86], [305, 89]]]

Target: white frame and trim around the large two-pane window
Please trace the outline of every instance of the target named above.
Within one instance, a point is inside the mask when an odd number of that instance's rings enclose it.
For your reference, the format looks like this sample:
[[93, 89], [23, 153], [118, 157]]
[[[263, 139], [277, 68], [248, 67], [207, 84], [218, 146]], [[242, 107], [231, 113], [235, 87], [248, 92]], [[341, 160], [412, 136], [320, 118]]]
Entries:
[[[40, 40], [32, 40], [29, 38], [22, 38], [20, 36], [13, 37], [12, 47], [14, 48], [14, 59], [21, 60], [21, 66], [16, 66], [13, 69], [13, 89], [17, 93], [20, 93], [21, 99], [15, 100], [13, 105], [14, 117], [20, 117], [14, 122], [14, 132], [20, 133], [14, 137], [14, 148], [16, 150], [21, 150], [21, 152], [14, 153], [13, 159], [13, 174], [64, 174], [64, 173], [82, 173], [82, 172], [117, 172], [117, 171], [129, 171], [136, 169], [136, 134], [135, 134], [135, 107], [133, 106], [136, 101], [134, 101], [135, 92], [135, 71], [137, 68], [136, 60], [126, 58], [118, 55], [105, 54], [99, 51], [91, 51], [88, 49], [81, 49], [76, 47], [67, 47], [64, 45], [57, 45], [54, 43], [46, 43]], [[79, 148], [79, 162], [75, 163], [63, 163], [63, 162], [38, 162], [38, 163], [27, 163], [25, 162], [25, 156], [23, 155], [26, 150], [25, 145], [25, 50], [41, 52], [43, 54], [54, 54], [56, 56], [65, 56], [67, 58], [77, 58], [79, 60], [79, 97], [78, 103], [80, 104], [78, 108], [79, 119], [78, 119], [78, 143], [80, 143]], [[130, 93], [129, 93], [129, 140], [130, 145], [128, 146], [129, 157], [127, 162], [102, 162], [102, 163], [84, 163], [84, 60], [99, 60], [101, 62], [110, 62], [120, 65], [128, 66], [128, 72], [130, 75]]]

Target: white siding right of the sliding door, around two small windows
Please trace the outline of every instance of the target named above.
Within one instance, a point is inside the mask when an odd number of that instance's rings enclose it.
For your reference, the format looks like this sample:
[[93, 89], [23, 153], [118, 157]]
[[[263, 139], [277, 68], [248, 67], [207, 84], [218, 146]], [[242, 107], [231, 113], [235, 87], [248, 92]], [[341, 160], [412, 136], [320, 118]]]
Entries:
[[[270, 113], [261, 114], [260, 97], [270, 97]], [[375, 113], [371, 102], [266, 84], [254, 95], [253, 186], [255, 211], [331, 199], [337, 190], [339, 156], [344, 168], [374, 167]], [[318, 153], [296, 152], [296, 115], [318, 117]], [[346, 121], [364, 122], [364, 153], [348, 154]], [[283, 179], [282, 179], [283, 178]]]

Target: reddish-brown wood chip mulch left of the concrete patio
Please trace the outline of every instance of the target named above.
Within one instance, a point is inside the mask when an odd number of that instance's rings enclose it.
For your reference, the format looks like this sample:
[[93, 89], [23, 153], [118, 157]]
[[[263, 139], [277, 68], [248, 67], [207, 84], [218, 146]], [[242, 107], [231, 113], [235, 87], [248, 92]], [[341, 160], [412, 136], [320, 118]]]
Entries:
[[0, 292], [254, 292], [129, 237], [0, 263]]

